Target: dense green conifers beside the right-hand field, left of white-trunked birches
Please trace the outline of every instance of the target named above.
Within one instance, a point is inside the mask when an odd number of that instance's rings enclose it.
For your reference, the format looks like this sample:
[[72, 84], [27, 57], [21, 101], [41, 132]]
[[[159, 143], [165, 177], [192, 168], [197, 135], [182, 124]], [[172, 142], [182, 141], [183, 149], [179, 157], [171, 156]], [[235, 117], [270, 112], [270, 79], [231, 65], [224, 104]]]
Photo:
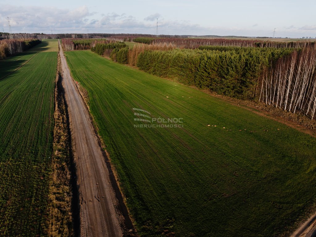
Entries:
[[219, 94], [253, 99], [263, 69], [271, 68], [277, 59], [291, 52], [293, 49], [253, 47], [145, 50], [138, 55], [137, 67]]

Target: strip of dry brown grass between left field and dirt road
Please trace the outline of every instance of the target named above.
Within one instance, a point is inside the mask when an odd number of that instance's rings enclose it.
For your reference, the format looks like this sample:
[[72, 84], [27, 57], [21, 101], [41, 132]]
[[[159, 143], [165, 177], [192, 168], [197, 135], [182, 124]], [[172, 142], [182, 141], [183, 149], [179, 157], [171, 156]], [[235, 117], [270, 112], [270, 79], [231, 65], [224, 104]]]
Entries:
[[74, 236], [68, 121], [61, 90], [60, 58], [55, 87], [55, 128], [49, 188], [48, 236]]

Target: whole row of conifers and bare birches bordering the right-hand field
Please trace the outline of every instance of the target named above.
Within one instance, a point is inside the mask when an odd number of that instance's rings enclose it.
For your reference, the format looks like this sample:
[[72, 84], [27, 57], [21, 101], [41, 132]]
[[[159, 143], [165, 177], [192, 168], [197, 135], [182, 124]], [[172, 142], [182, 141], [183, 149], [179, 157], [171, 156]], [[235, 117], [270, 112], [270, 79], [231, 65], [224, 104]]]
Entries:
[[153, 75], [315, 118], [316, 49], [310, 45], [177, 49], [163, 43], [111, 50], [112, 60]]

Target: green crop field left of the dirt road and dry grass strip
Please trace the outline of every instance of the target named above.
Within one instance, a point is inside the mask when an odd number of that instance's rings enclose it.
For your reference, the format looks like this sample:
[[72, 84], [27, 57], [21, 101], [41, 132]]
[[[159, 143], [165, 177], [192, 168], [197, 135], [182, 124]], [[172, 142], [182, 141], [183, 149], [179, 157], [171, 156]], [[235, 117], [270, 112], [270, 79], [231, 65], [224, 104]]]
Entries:
[[47, 226], [57, 53], [39, 51], [0, 61], [0, 236]]

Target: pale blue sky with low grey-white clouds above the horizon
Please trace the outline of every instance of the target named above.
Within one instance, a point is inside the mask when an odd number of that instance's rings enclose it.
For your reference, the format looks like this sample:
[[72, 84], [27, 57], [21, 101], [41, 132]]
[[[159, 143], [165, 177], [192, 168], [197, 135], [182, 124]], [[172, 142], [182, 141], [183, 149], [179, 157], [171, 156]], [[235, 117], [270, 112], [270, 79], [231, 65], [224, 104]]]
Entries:
[[315, 0], [0, 0], [0, 32], [316, 38]]

